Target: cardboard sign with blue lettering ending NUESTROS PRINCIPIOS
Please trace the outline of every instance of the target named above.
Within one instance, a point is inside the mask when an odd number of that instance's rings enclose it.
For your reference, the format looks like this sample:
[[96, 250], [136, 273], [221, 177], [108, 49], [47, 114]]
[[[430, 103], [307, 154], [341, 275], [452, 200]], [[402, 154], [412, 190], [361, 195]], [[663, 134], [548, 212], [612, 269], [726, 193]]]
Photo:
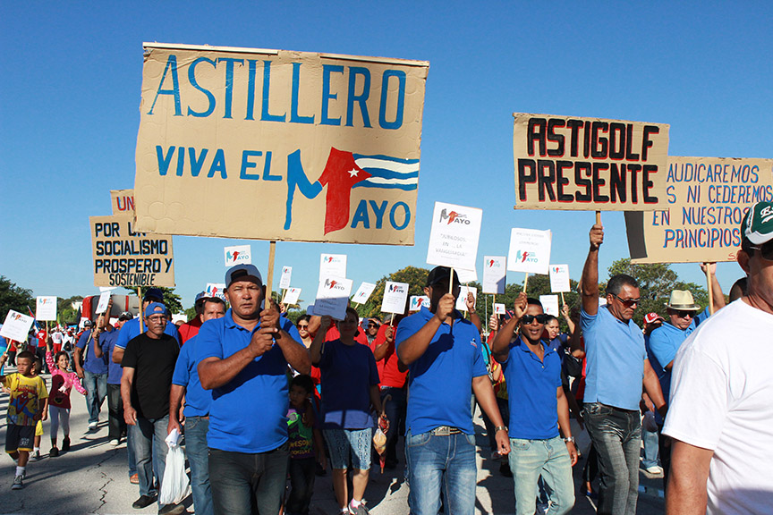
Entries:
[[668, 157], [668, 208], [626, 213], [632, 263], [735, 261], [741, 222], [773, 200], [773, 159]]

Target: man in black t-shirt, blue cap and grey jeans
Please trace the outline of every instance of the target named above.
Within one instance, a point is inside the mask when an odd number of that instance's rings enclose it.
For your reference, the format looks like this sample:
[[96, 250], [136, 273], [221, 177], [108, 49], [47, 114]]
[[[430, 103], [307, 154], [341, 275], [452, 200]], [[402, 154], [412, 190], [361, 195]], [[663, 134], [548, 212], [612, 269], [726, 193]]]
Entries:
[[[166, 333], [166, 308], [153, 302], [145, 308], [148, 330], [126, 345], [121, 366], [121, 397], [123, 418], [129, 425], [134, 440], [134, 456], [140, 478], [140, 498], [132, 508], [145, 508], [156, 501], [153, 489], [153, 470], [163, 480], [166, 466], [166, 426], [169, 423], [169, 392], [172, 388], [174, 364], [180, 347], [177, 340]], [[156, 439], [156, 463], [150, 464], [153, 438]], [[159, 507], [159, 515], [179, 514], [182, 504]]]

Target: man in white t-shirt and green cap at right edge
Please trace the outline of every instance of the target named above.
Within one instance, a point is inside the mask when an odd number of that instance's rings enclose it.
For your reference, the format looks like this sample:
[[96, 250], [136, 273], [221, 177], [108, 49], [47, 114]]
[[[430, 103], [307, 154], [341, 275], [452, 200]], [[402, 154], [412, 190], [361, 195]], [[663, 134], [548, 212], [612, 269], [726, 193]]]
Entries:
[[741, 234], [747, 294], [701, 324], [672, 368], [668, 514], [773, 507], [773, 203], [754, 204]]

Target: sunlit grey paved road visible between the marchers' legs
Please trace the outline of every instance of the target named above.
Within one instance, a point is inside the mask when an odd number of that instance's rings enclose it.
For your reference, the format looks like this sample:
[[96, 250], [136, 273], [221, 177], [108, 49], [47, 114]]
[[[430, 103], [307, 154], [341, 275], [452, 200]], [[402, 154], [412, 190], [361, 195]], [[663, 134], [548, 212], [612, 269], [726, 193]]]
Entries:
[[[12, 368], [13, 370], [13, 368]], [[48, 376], [44, 376], [50, 384]], [[0, 463], [0, 514], [63, 514], [81, 513], [134, 515], [156, 513], [155, 505], [144, 510], [133, 510], [132, 502], [139, 496], [137, 485], [129, 483], [126, 465], [126, 446], [122, 443], [113, 447], [107, 442], [106, 404], [99, 423], [98, 431], [87, 432], [88, 415], [86, 402], [76, 392], [72, 393], [71, 439], [72, 449], [57, 458], [49, 458], [50, 435], [48, 422], [44, 422], [46, 434], [43, 436], [41, 451], [43, 458], [30, 461], [27, 480], [23, 490], [12, 491], [14, 465], [4, 456]], [[0, 394], [0, 410], [5, 412], [8, 396]], [[486, 438], [482, 435], [482, 423], [476, 420], [479, 447], [478, 495], [476, 513], [510, 514], [514, 513], [513, 480], [502, 477], [498, 472], [498, 463], [488, 460], [490, 451]], [[60, 429], [61, 431], [61, 429]], [[5, 417], [0, 422], [0, 440], [5, 441]], [[61, 435], [60, 435], [61, 445]], [[579, 476], [582, 462], [575, 470]], [[664, 502], [658, 497], [661, 487], [659, 479], [650, 479], [641, 474], [642, 486], [649, 494], [641, 494], [638, 512], [650, 515], [664, 512]], [[408, 487], [404, 484], [402, 464], [393, 471], [382, 475], [373, 469], [371, 481], [365, 498], [373, 515], [404, 515], [408, 513]], [[190, 512], [193, 511], [191, 498], [186, 500]], [[329, 475], [318, 477], [314, 498], [311, 504], [312, 515], [337, 514], [333, 487]], [[590, 514], [595, 509], [584, 496], [579, 496], [573, 513]]]

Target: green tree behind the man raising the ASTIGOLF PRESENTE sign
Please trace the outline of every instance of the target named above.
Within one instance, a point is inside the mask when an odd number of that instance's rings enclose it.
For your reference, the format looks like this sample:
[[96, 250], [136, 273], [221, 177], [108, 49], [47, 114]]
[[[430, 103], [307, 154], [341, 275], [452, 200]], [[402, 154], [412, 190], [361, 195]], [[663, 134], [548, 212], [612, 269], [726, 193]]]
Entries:
[[[697, 265], [696, 265], [697, 266]], [[687, 290], [692, 292], [695, 303], [701, 307], [709, 305], [709, 292], [696, 283], [685, 283], [679, 280], [679, 276], [666, 263], [633, 265], [631, 259], [617, 259], [608, 268], [609, 277], [616, 274], [631, 275], [639, 283], [641, 302], [633, 312], [633, 321], [642, 325], [647, 313], [655, 312], [666, 317], [664, 306], [672, 290]], [[599, 284], [600, 293], [603, 296], [606, 283]]]

